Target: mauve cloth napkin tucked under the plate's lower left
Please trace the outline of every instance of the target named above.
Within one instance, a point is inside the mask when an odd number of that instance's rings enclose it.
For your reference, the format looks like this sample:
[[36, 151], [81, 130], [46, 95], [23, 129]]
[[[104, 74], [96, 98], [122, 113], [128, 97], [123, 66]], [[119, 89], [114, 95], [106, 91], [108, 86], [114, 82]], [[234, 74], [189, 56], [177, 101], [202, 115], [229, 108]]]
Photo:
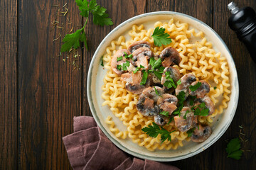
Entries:
[[63, 137], [63, 142], [73, 169], [178, 169], [126, 154], [103, 134], [89, 116], [74, 117], [74, 132]]

